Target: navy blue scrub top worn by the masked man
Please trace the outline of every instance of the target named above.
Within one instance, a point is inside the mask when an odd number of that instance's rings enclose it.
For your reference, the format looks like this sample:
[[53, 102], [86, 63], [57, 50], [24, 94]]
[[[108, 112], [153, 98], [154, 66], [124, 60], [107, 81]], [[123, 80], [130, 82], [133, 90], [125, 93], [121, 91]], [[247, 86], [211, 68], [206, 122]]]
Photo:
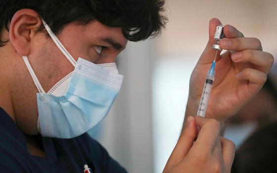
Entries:
[[32, 156], [24, 134], [0, 108], [0, 173], [127, 173], [87, 133], [72, 138], [42, 137], [46, 158]]

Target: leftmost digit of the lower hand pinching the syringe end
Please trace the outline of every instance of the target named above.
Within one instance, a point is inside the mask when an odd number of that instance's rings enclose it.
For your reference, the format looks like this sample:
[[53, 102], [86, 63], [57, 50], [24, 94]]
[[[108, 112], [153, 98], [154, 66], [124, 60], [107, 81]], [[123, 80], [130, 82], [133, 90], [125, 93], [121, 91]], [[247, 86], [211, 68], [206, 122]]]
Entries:
[[166, 167], [172, 167], [177, 165], [184, 159], [188, 151], [190, 150], [194, 138], [196, 135], [196, 124], [194, 118], [189, 116], [187, 118], [187, 125], [180, 135], [180, 138], [166, 164]]

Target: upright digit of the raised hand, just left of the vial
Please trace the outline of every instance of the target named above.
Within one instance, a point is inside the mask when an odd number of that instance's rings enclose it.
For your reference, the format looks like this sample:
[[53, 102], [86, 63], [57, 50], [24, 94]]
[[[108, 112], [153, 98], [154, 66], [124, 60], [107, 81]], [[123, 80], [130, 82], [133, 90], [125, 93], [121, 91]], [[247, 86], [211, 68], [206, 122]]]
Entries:
[[[206, 48], [204, 49], [204, 51], [198, 61], [198, 63], [200, 63], [200, 64], [211, 63], [215, 58], [215, 54], [216, 54], [217, 50], [213, 49], [212, 45], [215, 43], [214, 35], [215, 35], [217, 25], [221, 25], [220, 20], [217, 18], [212, 18], [210, 20], [210, 24], [209, 24], [209, 42], [207, 43]], [[220, 56], [219, 54], [220, 53], [218, 52], [217, 56]], [[218, 59], [218, 57], [217, 57], [217, 59]]]

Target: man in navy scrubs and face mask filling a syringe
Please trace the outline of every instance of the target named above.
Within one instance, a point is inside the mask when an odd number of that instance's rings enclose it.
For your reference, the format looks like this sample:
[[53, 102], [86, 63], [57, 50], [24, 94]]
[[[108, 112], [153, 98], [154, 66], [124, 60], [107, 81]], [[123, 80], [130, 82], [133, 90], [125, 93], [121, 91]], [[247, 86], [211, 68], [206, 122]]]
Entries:
[[[87, 172], [126, 172], [86, 132], [107, 114], [120, 89], [115, 57], [127, 41], [160, 33], [166, 22], [163, 5], [163, 0], [0, 2], [1, 172], [82, 173], [84, 165]], [[202, 87], [195, 85], [195, 76], [202, 82], [212, 62], [212, 35], [219, 23], [211, 20], [210, 41], [192, 74], [186, 117], [195, 115]], [[231, 43], [221, 46], [242, 56], [234, 60], [233, 54], [233, 62], [229, 52], [218, 57], [217, 71], [224, 73], [213, 92], [229, 104], [214, 104], [207, 116], [222, 122], [261, 88], [273, 63], [257, 39], [238, 38], [242, 34], [231, 26], [225, 32]], [[244, 65], [233, 65], [238, 62]], [[234, 146], [219, 136], [220, 123], [190, 116], [186, 124], [164, 172], [230, 172]]]

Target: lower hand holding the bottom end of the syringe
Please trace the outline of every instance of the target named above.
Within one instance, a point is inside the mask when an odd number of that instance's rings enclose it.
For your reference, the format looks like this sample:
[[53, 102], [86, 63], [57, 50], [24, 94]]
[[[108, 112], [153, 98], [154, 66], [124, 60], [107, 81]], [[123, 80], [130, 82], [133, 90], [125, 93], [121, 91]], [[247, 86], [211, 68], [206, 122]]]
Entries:
[[217, 120], [189, 116], [163, 173], [230, 173], [235, 146], [219, 132]]

